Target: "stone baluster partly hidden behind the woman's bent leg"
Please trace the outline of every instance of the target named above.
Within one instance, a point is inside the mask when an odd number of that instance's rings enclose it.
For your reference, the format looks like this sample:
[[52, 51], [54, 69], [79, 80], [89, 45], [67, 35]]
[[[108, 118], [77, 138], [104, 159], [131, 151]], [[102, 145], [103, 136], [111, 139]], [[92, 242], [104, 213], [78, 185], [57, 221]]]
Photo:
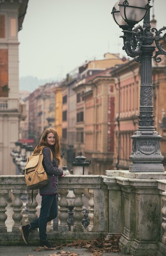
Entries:
[[[36, 214], [36, 207], [38, 206], [38, 202], [36, 201], [36, 196], [38, 194], [38, 189], [34, 190], [34, 199], [33, 203], [31, 200], [31, 190], [28, 189], [28, 195], [29, 195], [29, 201], [28, 201], [28, 207], [29, 207], [29, 214], [27, 216], [29, 222], [32, 222], [33, 220], [36, 220], [38, 218]], [[32, 204], [31, 204], [32, 203]]]

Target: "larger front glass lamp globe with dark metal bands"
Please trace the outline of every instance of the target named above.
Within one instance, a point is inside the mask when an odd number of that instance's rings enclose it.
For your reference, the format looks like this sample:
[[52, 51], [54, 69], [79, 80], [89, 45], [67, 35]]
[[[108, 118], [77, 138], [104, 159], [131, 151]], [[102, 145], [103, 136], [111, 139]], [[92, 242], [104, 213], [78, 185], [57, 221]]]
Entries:
[[120, 0], [119, 11], [128, 25], [143, 20], [149, 10], [148, 0]]

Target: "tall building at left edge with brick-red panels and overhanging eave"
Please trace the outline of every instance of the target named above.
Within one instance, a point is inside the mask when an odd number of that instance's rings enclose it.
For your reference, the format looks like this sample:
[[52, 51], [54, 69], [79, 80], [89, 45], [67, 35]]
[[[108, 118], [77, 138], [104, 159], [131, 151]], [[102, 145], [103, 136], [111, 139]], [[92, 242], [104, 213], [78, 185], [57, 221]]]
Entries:
[[0, 174], [16, 174], [10, 157], [19, 138], [19, 121], [25, 106], [19, 105], [18, 31], [22, 29], [28, 0], [0, 4]]

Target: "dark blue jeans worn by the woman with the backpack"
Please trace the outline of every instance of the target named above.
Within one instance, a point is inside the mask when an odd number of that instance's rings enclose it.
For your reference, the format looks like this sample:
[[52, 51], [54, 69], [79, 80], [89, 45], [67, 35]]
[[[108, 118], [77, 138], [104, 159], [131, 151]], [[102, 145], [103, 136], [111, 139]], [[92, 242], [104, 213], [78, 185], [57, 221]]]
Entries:
[[36, 220], [30, 222], [32, 229], [39, 229], [39, 237], [42, 241], [47, 240], [47, 222], [57, 217], [57, 207], [58, 205], [56, 195], [42, 195], [40, 215]]

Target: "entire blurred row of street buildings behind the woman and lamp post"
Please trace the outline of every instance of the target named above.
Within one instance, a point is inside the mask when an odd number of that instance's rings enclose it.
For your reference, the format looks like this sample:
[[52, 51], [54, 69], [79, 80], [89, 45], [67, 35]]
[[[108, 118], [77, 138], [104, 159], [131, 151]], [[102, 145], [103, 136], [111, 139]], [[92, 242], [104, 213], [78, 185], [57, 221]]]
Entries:
[[[80, 151], [91, 159], [89, 173], [128, 169], [130, 137], [138, 127], [140, 64], [117, 54], [107, 56], [110, 67], [102, 67], [101, 61], [97, 69], [91, 69], [96, 61], [90, 62], [91, 67], [86, 63], [73, 76], [68, 74], [56, 85], [40, 86], [27, 97], [29, 139], [34, 138], [36, 145], [46, 127], [55, 128], [61, 139], [62, 163], [69, 170]], [[154, 64], [154, 125], [163, 136], [161, 148], [166, 159], [166, 65], [164, 61]]]

